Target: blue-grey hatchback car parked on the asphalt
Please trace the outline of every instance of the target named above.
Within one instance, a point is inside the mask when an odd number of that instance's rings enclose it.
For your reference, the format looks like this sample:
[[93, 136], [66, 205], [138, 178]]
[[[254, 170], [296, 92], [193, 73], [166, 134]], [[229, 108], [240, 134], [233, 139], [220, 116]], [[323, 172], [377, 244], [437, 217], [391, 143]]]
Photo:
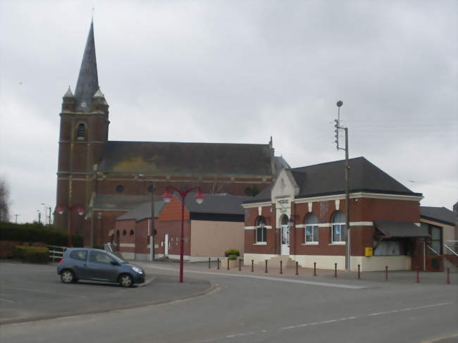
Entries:
[[57, 274], [63, 283], [78, 280], [116, 282], [122, 287], [143, 283], [144, 270], [123, 261], [108, 251], [89, 248], [70, 248], [58, 263]]

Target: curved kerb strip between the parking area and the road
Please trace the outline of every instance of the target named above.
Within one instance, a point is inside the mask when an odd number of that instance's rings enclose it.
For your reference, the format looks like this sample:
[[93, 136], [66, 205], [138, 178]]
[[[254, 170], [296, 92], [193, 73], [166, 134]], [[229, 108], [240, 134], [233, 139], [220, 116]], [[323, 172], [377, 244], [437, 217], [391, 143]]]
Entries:
[[[152, 281], [154, 281], [155, 278], [156, 277], [151, 278], [149, 282], [144, 282], [144, 284], [142, 285], [144, 286], [145, 284], [151, 283]], [[147, 307], [147, 306], [167, 304], [167, 303], [172, 303], [174, 301], [190, 300], [190, 299], [194, 299], [197, 297], [202, 297], [220, 288], [220, 286], [213, 281], [209, 281], [209, 283], [210, 283], [210, 287], [204, 289], [203, 291], [195, 292], [195, 293], [188, 294], [182, 297], [171, 297], [171, 298], [160, 299], [160, 300], [155, 300], [155, 301], [148, 301], [143, 304], [111, 306], [109, 308], [97, 308], [97, 309], [87, 310], [87, 311], [61, 312], [61, 313], [54, 313], [54, 314], [49, 314], [49, 315], [44, 315], [44, 316], [36, 316], [36, 317], [31, 317], [31, 318], [15, 318], [15, 319], [9, 319], [9, 320], [6, 319], [6, 320], [0, 320], [0, 325], [27, 323], [27, 322], [35, 322], [38, 320], [48, 320], [48, 319], [74, 317], [74, 316], [85, 316], [87, 314], [107, 313], [107, 312], [112, 312], [112, 311], [128, 310], [131, 308], [141, 308], [141, 307]]]

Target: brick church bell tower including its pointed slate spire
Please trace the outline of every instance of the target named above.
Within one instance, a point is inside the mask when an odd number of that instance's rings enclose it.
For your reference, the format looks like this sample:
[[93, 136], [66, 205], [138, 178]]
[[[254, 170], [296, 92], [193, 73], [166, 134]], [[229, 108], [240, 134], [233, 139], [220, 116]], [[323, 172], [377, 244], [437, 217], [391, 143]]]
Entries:
[[68, 87], [62, 99], [56, 208], [61, 208], [63, 213], [56, 211], [54, 223], [62, 230], [83, 235], [87, 245], [90, 240], [89, 201], [109, 130], [109, 105], [101, 93], [97, 76], [93, 22], [75, 94]]

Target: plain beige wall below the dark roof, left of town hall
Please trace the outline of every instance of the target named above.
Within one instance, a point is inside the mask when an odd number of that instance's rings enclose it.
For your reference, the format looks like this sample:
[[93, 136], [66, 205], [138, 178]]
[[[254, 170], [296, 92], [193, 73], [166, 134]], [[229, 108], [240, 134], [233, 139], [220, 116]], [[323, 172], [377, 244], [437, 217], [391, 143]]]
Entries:
[[222, 257], [227, 249], [243, 256], [245, 223], [191, 220], [191, 256]]

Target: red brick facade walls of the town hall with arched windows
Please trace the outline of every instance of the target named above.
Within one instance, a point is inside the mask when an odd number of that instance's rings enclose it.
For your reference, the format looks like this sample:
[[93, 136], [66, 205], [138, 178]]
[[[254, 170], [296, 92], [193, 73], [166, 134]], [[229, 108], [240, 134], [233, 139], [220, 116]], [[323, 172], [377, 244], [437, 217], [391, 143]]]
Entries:
[[[419, 223], [420, 208], [417, 201], [402, 201], [388, 199], [362, 198], [350, 199], [350, 222], [372, 222], [373, 220], [397, 220]], [[330, 223], [336, 211], [335, 201], [319, 201], [312, 204], [312, 213], [318, 218], [318, 223]], [[339, 211], [345, 213], [345, 200], [340, 200]], [[262, 215], [267, 219], [267, 225], [276, 226], [275, 211], [270, 207], [262, 208]], [[294, 204], [292, 218], [296, 225], [303, 224], [309, 213], [308, 204]], [[258, 208], [245, 209], [245, 226], [255, 226], [258, 218]], [[256, 230], [245, 230], [245, 252], [249, 254], [279, 254], [279, 233], [276, 230], [266, 230], [267, 245], [253, 245], [256, 242]], [[365, 247], [373, 247], [374, 227], [352, 226], [351, 254], [364, 256]], [[290, 254], [292, 255], [345, 255], [345, 245], [330, 245], [331, 227], [320, 227], [318, 245], [304, 244], [304, 228], [290, 230]]]

